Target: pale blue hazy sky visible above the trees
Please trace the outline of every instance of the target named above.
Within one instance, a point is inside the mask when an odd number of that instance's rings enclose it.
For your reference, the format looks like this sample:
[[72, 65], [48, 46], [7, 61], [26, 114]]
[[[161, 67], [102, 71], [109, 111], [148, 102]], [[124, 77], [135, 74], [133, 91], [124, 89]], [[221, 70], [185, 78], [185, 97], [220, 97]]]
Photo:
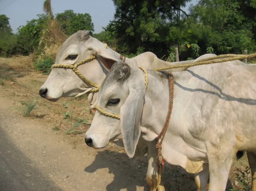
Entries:
[[[17, 28], [26, 25], [26, 21], [37, 18], [43, 12], [44, 0], [0, 0], [0, 14], [5, 14], [9, 19], [14, 33]], [[183, 10], [187, 11], [192, 0]], [[114, 17], [115, 7], [112, 0], [52, 0], [52, 11], [56, 13], [72, 9], [76, 13], [89, 13], [94, 23], [94, 33], [99, 33]]]

